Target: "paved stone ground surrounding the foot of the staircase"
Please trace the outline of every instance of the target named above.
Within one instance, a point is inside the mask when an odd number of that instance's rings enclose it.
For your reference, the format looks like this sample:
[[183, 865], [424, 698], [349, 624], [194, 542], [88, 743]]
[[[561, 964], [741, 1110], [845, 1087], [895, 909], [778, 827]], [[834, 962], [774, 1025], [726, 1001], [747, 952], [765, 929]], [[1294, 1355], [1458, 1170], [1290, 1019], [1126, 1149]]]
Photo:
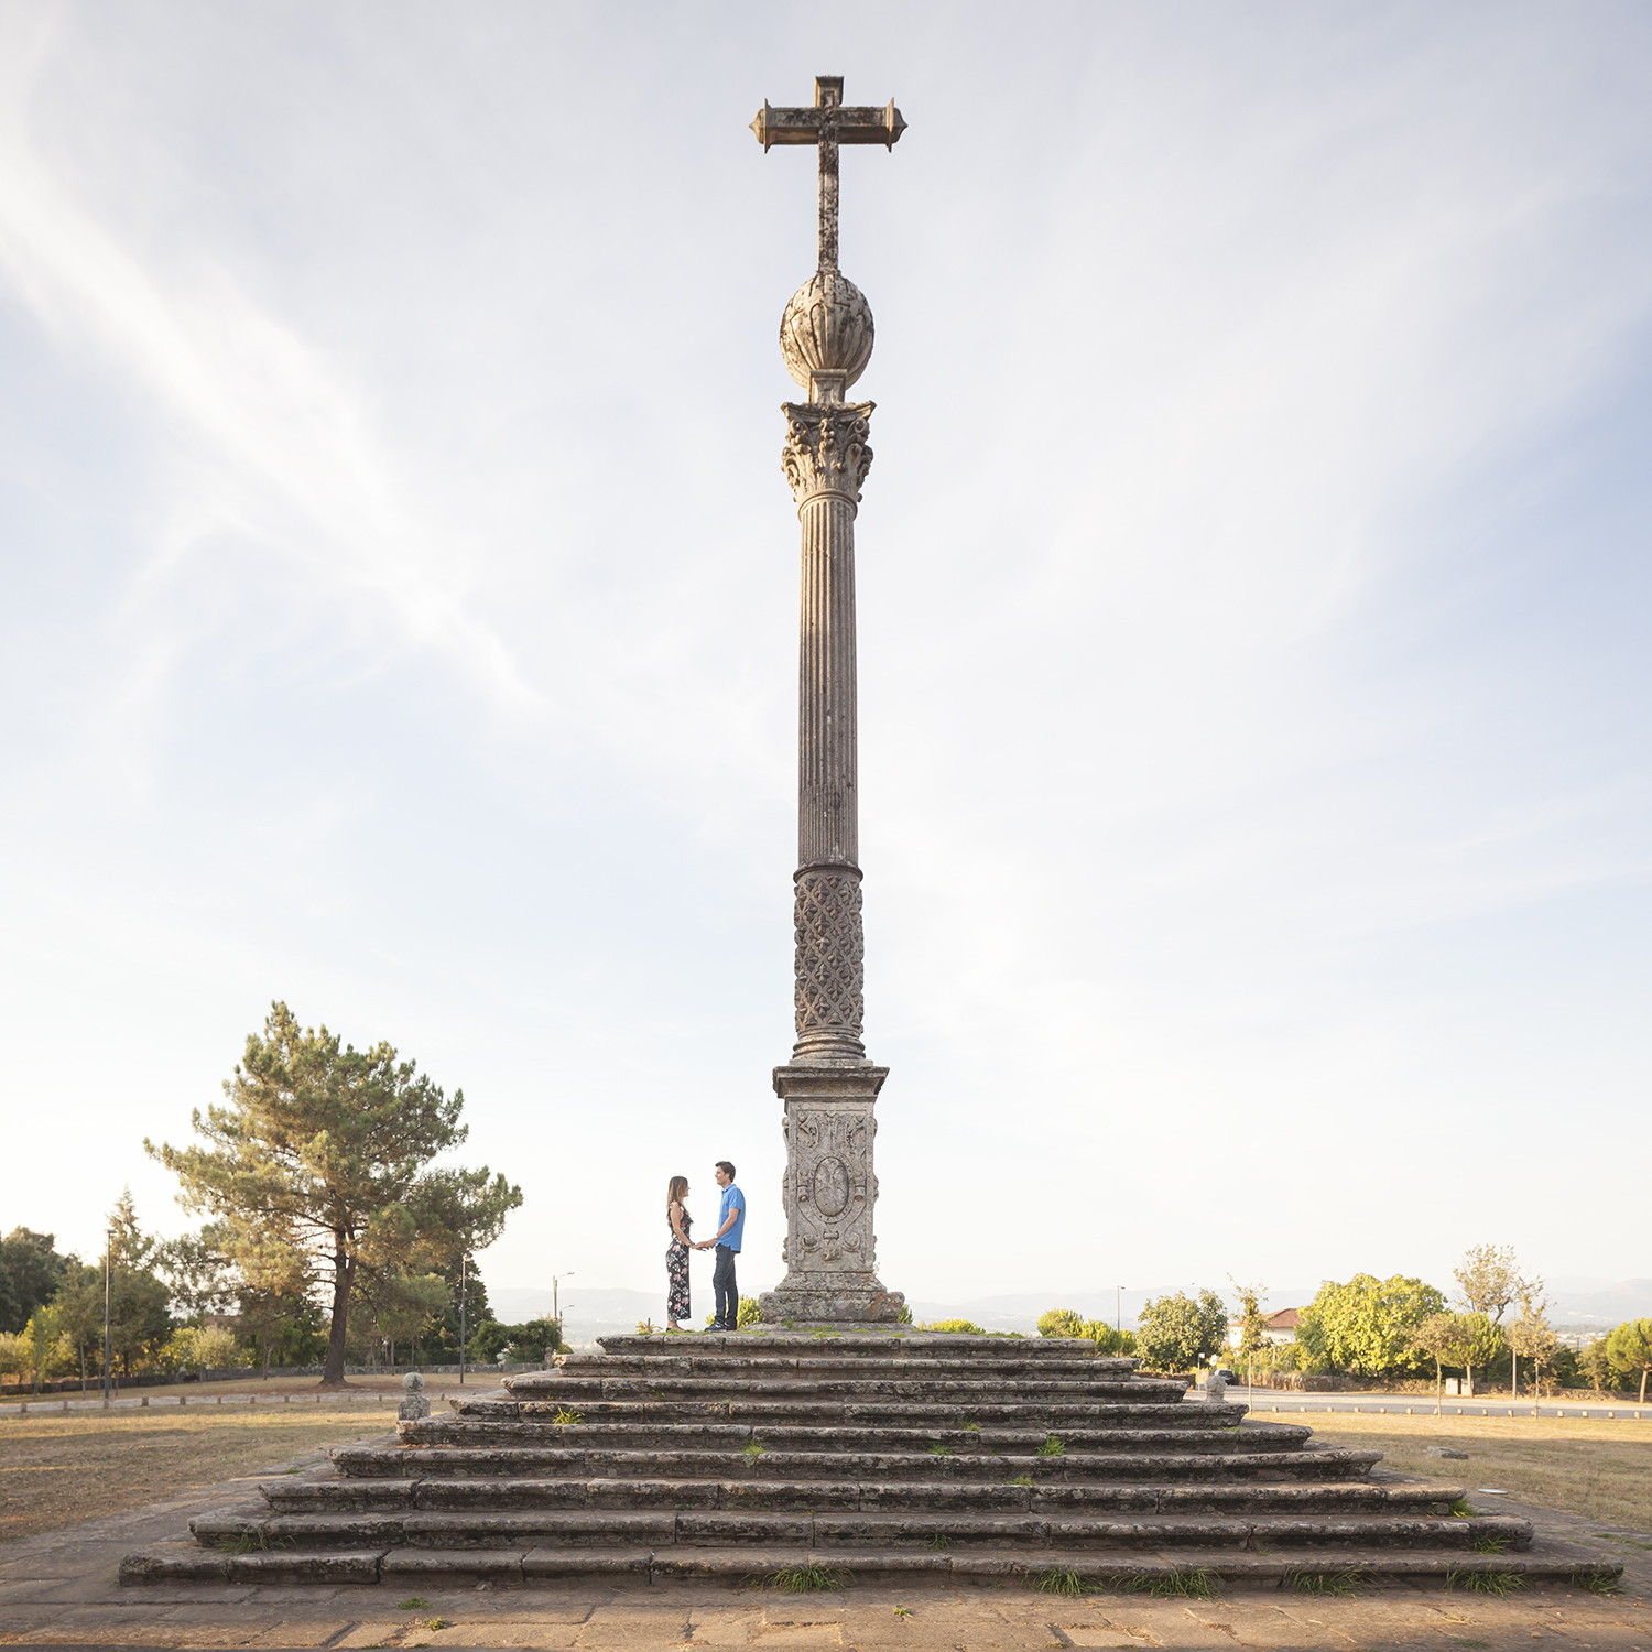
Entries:
[[[309, 1454], [296, 1462], [312, 1462]], [[276, 1470], [279, 1472], [279, 1470]], [[783, 1596], [720, 1588], [431, 1591], [403, 1609], [405, 1586], [345, 1589], [122, 1589], [121, 1556], [175, 1540], [192, 1515], [246, 1500], [264, 1474], [210, 1493], [88, 1520], [0, 1546], [0, 1644], [58, 1647], [902, 1647], [1019, 1652], [1026, 1647], [1439, 1649], [1637, 1647], [1652, 1652], [1652, 1536], [1576, 1515], [1508, 1505], [1541, 1536], [1626, 1563], [1624, 1593], [1597, 1597], [1538, 1584], [1510, 1599], [1411, 1584], [1353, 1599], [1232, 1589], [1218, 1601], [1097, 1594], [1066, 1601], [1014, 1588], [852, 1584]], [[1619, 1541], [1612, 1541], [1617, 1538]], [[431, 1619], [444, 1627], [431, 1629]]]

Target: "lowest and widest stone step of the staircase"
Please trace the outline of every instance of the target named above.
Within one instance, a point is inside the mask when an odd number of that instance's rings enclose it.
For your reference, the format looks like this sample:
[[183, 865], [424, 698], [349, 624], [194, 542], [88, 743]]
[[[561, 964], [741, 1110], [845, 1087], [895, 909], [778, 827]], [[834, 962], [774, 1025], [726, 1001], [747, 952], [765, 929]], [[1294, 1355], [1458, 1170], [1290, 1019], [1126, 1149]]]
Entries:
[[[1579, 1564], [1583, 1561], [1583, 1564]], [[991, 1550], [859, 1548], [809, 1550], [803, 1546], [648, 1546], [433, 1550], [378, 1546], [362, 1550], [253, 1550], [231, 1555], [193, 1543], [155, 1543], [121, 1563], [122, 1584], [347, 1584], [383, 1583], [396, 1589], [420, 1588], [520, 1588], [563, 1579], [610, 1584], [705, 1583], [742, 1588], [778, 1566], [819, 1564], [846, 1581], [881, 1578], [909, 1586], [1036, 1584], [1041, 1576], [1072, 1573], [1080, 1583], [1105, 1589], [1122, 1581], [1140, 1584], [1178, 1573], [1209, 1571], [1218, 1586], [1279, 1584], [1292, 1576], [1355, 1573], [1373, 1581], [1442, 1584], [1467, 1573], [1513, 1573], [1526, 1579], [1569, 1581], [1586, 1573], [1622, 1576], [1622, 1561], [1589, 1561], [1578, 1550], [1555, 1541], [1526, 1551], [1465, 1555], [1441, 1550], [1358, 1546], [1282, 1546], [1256, 1551], [1178, 1548], [1168, 1553], [1128, 1555], [1104, 1550], [1042, 1550], [1001, 1555]]]

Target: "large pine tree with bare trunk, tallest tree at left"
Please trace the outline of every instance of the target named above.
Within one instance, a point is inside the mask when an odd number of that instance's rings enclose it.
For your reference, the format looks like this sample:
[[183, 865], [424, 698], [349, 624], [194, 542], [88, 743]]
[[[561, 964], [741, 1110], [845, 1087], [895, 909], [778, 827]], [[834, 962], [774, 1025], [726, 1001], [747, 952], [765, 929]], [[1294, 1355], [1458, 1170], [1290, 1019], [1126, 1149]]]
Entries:
[[357, 1051], [271, 1006], [264, 1034], [225, 1080], [228, 1105], [192, 1115], [208, 1146], [144, 1148], [215, 1214], [225, 1249], [266, 1290], [332, 1298], [322, 1386], [344, 1381], [352, 1300], [387, 1272], [431, 1272], [486, 1249], [520, 1188], [481, 1170], [436, 1170], [459, 1146], [464, 1092], [446, 1097], [380, 1042]]

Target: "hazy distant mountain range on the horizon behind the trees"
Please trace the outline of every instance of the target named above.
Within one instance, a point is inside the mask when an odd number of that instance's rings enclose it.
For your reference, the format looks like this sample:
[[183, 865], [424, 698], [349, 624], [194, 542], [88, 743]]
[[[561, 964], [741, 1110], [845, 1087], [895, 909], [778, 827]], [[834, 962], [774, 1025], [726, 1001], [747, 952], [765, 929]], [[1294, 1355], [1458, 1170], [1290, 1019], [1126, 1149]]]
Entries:
[[[1173, 1294], [1176, 1285], [1151, 1290], [1036, 1290], [996, 1297], [960, 1297], [955, 1300], [915, 1298], [912, 1315], [917, 1320], [971, 1320], [990, 1332], [1037, 1330], [1037, 1317], [1047, 1308], [1072, 1308], [1085, 1318], [1107, 1320], [1133, 1327], [1142, 1303], [1150, 1297]], [[1186, 1289], [1186, 1287], [1180, 1287]], [[1295, 1308], [1313, 1300], [1317, 1285], [1292, 1285], [1269, 1290], [1267, 1308]], [[699, 1292], [695, 1295], [700, 1295]], [[1224, 1292], [1231, 1298], [1231, 1292]], [[494, 1313], [506, 1323], [520, 1323], [550, 1313], [550, 1292], [512, 1285], [489, 1290]], [[598, 1336], [636, 1330], [638, 1320], [653, 1318], [657, 1325], [664, 1313], [664, 1290], [567, 1290], [563, 1294], [562, 1323], [568, 1341], [591, 1343]], [[697, 1318], [710, 1310], [710, 1292], [699, 1303]], [[1612, 1284], [1606, 1279], [1563, 1277], [1550, 1282], [1550, 1322], [1555, 1325], [1601, 1327], [1619, 1325], [1622, 1320], [1652, 1318], [1652, 1279], [1622, 1279]]]

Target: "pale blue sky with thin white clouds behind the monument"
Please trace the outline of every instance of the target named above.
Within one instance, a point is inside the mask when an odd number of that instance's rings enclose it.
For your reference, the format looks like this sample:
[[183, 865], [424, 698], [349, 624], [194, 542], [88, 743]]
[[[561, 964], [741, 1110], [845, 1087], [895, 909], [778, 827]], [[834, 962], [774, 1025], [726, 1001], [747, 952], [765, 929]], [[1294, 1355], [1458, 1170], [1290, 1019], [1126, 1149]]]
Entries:
[[[781, 1274], [780, 314], [846, 152], [879, 1272], [1652, 1275], [1652, 13], [0, 0], [0, 1227], [282, 999], [481, 1267]], [[709, 1297], [709, 1259], [695, 1290]], [[568, 1287], [565, 1287], [567, 1290]]]

